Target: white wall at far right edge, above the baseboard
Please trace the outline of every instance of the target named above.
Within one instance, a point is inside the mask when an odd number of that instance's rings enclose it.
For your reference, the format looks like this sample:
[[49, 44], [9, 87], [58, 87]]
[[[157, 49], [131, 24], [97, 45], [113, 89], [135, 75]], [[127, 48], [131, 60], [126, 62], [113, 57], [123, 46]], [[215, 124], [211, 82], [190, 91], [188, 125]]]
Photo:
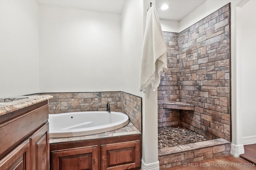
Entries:
[[255, 40], [256, 40], [256, 1], [250, 0], [242, 7], [242, 63], [241, 63], [241, 114], [243, 144], [256, 143], [256, 110], [255, 104]]

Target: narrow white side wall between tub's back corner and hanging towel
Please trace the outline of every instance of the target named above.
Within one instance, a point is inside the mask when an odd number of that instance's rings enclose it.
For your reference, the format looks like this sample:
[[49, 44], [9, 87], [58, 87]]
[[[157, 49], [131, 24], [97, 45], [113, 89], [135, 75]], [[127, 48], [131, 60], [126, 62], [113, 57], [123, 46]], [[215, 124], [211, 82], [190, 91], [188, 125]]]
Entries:
[[142, 0], [127, 0], [122, 12], [122, 91], [141, 96]]

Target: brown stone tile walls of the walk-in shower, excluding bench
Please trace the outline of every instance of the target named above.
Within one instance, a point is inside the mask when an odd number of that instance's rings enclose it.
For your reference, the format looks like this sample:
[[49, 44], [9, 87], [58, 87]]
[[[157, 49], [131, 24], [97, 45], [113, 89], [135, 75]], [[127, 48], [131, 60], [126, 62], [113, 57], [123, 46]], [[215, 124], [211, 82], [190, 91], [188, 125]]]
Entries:
[[[159, 127], [180, 124], [230, 141], [230, 4], [164, 38], [168, 71], [158, 88]], [[194, 111], [164, 109], [169, 102], [192, 104]]]

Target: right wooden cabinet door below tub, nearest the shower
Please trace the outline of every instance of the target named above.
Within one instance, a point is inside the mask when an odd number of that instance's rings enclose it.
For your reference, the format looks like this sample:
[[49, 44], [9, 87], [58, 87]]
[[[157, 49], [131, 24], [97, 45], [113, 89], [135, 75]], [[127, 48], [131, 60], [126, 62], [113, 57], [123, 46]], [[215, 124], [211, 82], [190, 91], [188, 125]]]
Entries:
[[140, 169], [140, 141], [101, 145], [102, 170]]

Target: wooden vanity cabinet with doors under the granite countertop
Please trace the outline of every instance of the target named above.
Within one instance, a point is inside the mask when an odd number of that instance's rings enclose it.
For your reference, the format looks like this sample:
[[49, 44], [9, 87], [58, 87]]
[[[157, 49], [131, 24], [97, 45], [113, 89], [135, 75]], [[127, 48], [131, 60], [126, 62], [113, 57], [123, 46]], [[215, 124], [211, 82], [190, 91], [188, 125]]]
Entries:
[[48, 101], [0, 116], [0, 170], [50, 170]]

